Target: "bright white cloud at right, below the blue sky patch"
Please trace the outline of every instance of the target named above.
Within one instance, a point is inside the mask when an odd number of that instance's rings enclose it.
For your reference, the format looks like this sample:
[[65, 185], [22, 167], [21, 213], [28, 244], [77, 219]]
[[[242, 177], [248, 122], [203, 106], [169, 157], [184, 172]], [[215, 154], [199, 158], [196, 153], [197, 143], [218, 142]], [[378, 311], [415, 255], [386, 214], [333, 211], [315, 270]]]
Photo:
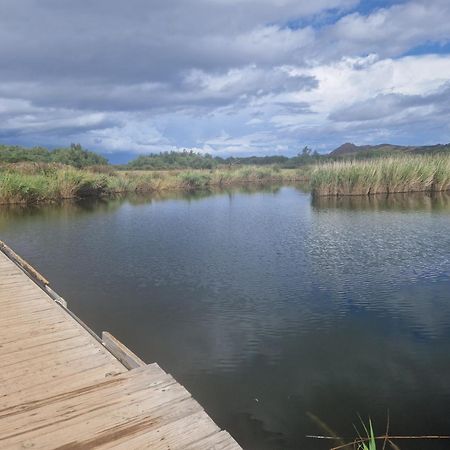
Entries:
[[[292, 94], [292, 100], [311, 105], [316, 114], [299, 116], [297, 122], [296, 116], [277, 115], [273, 121], [278, 125], [326, 125], [329, 116], [337, 118], [339, 111], [362, 102], [371, 107], [372, 118], [383, 119], [390, 115], [389, 108], [393, 106], [392, 95], [430, 95], [446, 84], [450, 80], [450, 55], [408, 56], [395, 60], [378, 60], [370, 55], [365, 59], [343, 58], [336, 63], [296, 69], [295, 72], [316, 78], [316, 89]], [[375, 101], [380, 98], [387, 100], [383, 102], [382, 108], [381, 102]], [[371, 101], [373, 103], [370, 105]], [[433, 98], [433, 101], [436, 99]], [[408, 106], [420, 105], [403, 102], [405, 110]], [[361, 117], [361, 120], [364, 118]]]

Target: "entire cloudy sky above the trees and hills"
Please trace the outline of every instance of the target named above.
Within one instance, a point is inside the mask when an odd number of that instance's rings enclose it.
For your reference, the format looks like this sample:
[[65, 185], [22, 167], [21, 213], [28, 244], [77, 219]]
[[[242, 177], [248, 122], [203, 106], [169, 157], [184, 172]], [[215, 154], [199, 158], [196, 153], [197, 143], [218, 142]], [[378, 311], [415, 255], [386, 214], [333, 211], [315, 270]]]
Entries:
[[449, 24], [449, 0], [0, 0], [0, 143], [447, 143]]

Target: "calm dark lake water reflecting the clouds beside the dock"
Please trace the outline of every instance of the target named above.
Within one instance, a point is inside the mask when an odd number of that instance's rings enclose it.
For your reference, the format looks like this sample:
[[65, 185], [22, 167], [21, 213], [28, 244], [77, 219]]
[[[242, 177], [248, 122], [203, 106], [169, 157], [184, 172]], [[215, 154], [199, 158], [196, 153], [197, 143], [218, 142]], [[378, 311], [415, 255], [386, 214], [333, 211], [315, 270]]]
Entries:
[[[450, 433], [450, 197], [294, 187], [2, 208], [0, 238], [248, 449]], [[321, 425], [322, 424], [322, 425]], [[337, 444], [336, 444], [337, 445]], [[450, 443], [402, 443], [402, 449]]]

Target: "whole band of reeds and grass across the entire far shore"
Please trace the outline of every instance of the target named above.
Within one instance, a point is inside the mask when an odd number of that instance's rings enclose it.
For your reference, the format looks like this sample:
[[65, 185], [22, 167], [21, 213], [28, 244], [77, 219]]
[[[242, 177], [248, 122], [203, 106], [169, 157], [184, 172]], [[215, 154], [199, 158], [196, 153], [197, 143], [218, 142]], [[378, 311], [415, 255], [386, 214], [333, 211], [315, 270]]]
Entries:
[[185, 170], [83, 169], [47, 163], [0, 166], [0, 204], [55, 202], [119, 193], [208, 189], [309, 179], [318, 196], [371, 195], [450, 190], [450, 155], [410, 155], [280, 169], [238, 166]]

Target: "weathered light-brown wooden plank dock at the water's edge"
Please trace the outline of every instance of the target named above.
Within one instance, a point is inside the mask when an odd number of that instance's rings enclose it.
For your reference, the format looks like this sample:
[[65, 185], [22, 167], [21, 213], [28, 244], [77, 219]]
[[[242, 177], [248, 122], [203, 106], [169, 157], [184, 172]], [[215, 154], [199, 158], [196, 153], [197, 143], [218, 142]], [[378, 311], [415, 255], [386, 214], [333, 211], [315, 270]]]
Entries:
[[241, 448], [157, 364], [98, 338], [0, 250], [0, 448]]

